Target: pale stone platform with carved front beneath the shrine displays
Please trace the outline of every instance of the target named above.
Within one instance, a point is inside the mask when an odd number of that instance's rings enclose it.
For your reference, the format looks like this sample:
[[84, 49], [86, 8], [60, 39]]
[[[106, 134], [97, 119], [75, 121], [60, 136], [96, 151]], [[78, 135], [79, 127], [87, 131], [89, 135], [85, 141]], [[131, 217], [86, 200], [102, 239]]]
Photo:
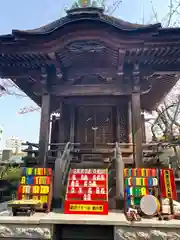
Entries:
[[[97, 229], [101, 226], [112, 227], [112, 239], [115, 240], [180, 240], [180, 220], [143, 219], [141, 222], [131, 223], [123, 213], [115, 212], [110, 212], [107, 216], [65, 215], [53, 212], [36, 213], [30, 217], [0, 216], [0, 239], [67, 239], [57, 237], [55, 228], [70, 228], [74, 225], [79, 229], [84, 226], [91, 226], [92, 229], [95, 226]], [[80, 239], [86, 239], [86, 236]]]

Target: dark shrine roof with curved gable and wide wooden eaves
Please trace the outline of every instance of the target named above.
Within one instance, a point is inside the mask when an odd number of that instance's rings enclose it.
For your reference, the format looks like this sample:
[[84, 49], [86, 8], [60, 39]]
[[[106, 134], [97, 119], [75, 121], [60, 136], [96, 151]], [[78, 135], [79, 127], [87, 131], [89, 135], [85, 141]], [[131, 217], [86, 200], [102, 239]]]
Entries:
[[92, 70], [115, 78], [136, 62], [144, 82], [151, 85], [142, 95], [142, 107], [152, 110], [179, 79], [180, 28], [130, 23], [89, 7], [69, 10], [65, 17], [36, 29], [0, 36], [0, 77], [11, 78], [39, 105], [34, 85], [42, 85], [44, 67], [54, 65], [57, 76], [73, 82]]

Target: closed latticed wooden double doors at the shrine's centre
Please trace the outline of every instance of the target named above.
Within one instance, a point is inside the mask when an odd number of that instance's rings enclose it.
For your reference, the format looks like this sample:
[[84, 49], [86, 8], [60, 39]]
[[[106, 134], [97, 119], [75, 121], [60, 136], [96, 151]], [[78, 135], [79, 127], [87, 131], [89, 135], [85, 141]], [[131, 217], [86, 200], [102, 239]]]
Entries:
[[112, 107], [79, 107], [77, 109], [77, 141], [92, 147], [113, 142], [112, 123]]

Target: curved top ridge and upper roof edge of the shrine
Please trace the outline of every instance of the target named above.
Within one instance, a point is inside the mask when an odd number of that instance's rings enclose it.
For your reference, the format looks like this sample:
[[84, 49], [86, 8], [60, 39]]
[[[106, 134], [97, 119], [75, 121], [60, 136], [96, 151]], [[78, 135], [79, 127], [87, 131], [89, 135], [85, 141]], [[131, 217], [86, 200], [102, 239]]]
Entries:
[[150, 25], [133, 24], [113, 16], [108, 16], [104, 14], [103, 3], [98, 2], [98, 0], [76, 0], [72, 7], [66, 11], [66, 13], [67, 15], [65, 17], [59, 18], [39, 28], [31, 30], [13, 29], [12, 36], [19, 37], [20, 35], [45, 35], [56, 31], [58, 28], [63, 27], [66, 24], [81, 20], [99, 20], [123, 31], [148, 31], [151, 29], [152, 31], [157, 31], [158, 28], [161, 28], [160, 23]]

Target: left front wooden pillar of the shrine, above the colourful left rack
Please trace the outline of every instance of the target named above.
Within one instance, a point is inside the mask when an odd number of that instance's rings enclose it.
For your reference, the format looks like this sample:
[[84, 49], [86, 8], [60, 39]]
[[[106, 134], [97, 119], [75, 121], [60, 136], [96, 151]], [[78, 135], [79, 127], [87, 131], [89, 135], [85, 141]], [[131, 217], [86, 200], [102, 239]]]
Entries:
[[41, 122], [39, 134], [39, 165], [46, 165], [48, 145], [49, 145], [49, 128], [50, 128], [50, 94], [42, 95]]

